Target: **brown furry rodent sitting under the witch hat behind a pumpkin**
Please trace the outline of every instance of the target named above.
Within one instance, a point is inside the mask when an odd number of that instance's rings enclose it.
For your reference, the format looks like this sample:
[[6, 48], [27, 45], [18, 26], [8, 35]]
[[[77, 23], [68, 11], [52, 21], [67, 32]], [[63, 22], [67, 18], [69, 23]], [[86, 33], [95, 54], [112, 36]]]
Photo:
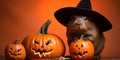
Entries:
[[72, 16], [71, 19], [67, 26], [68, 44], [84, 35], [82, 39], [90, 40], [94, 44], [95, 55], [100, 55], [105, 39], [103, 33], [92, 22], [93, 19], [86, 16]]

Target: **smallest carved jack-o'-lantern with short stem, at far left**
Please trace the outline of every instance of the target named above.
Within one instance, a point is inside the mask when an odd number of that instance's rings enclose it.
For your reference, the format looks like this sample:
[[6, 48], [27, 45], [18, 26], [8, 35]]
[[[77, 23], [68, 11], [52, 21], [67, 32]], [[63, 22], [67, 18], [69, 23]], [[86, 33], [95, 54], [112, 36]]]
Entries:
[[24, 60], [26, 58], [26, 51], [22, 44], [17, 43], [15, 40], [5, 48], [5, 56], [7, 60]]

